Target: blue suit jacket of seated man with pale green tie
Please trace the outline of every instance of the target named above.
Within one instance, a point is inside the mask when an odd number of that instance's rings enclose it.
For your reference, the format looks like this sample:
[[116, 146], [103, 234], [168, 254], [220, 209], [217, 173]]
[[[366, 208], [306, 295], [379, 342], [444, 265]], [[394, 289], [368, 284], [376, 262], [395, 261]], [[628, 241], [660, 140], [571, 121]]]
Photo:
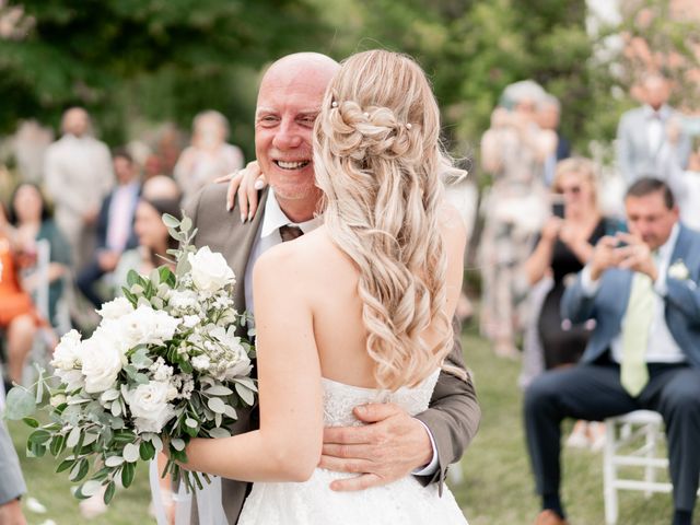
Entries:
[[[700, 368], [700, 233], [680, 225], [669, 267], [678, 261], [688, 268], [687, 279], [666, 276], [663, 298], [666, 325], [691, 366]], [[581, 362], [598, 359], [620, 332], [630, 298], [633, 272], [609, 269], [603, 273], [598, 293], [586, 298], [581, 275], [561, 300], [561, 314], [573, 323], [596, 319], [596, 327]]]

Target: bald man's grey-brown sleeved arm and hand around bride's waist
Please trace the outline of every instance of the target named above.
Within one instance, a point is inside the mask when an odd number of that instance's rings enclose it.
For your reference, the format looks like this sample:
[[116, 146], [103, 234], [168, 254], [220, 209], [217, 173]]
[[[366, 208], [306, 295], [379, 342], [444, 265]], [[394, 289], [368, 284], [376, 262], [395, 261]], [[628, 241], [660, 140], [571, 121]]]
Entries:
[[474, 439], [481, 417], [462, 358], [459, 325], [455, 322], [454, 326], [455, 346], [446, 364], [463, 371], [466, 378], [441, 372], [427, 411], [412, 418], [392, 404], [364, 405], [357, 407], [354, 415], [368, 425], [324, 430], [319, 466], [359, 475], [334, 481], [331, 489], [362, 490], [389, 483], [429, 465], [433, 454], [438, 455], [435, 472], [417, 479], [425, 485], [444, 479], [447, 466]]

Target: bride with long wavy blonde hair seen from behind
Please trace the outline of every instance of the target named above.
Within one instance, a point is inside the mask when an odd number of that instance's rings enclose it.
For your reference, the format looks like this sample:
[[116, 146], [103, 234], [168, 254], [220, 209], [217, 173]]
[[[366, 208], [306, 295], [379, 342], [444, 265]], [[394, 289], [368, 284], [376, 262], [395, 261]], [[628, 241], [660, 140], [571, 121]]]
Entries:
[[406, 56], [354, 55], [330, 82], [313, 143], [324, 225], [254, 270], [260, 429], [187, 447], [184, 467], [255, 482], [238, 524], [466, 524], [438, 483], [335, 492], [349, 475], [317, 468], [324, 425], [360, 424], [355, 406], [425, 410], [452, 349], [466, 235], [439, 136]]

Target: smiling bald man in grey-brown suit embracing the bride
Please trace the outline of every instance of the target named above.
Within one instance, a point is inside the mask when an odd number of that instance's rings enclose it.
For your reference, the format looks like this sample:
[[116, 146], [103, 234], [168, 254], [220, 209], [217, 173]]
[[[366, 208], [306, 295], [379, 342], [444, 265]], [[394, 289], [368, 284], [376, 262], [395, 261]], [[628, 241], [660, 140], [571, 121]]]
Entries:
[[[237, 279], [235, 307], [253, 311], [253, 266], [262, 252], [287, 240], [292, 230], [308, 232], [320, 194], [314, 183], [312, 132], [328, 82], [339, 66], [318, 54], [281, 58], [265, 73], [255, 117], [256, 156], [270, 190], [262, 195], [252, 220], [238, 221], [226, 211], [226, 186], [210, 185], [192, 201], [187, 214], [198, 228], [195, 242], [221, 252]], [[450, 364], [464, 369], [458, 330]], [[238, 411], [234, 432], [257, 425], [256, 410]], [[334, 490], [362, 490], [392, 482], [409, 474], [428, 485], [442, 483], [451, 463], [459, 459], [474, 438], [480, 410], [471, 380], [442, 373], [430, 408], [409, 417], [392, 405], [355, 409], [364, 427], [326, 429], [320, 466], [358, 474], [337, 480]], [[223, 480], [223, 503], [235, 523], [248, 483]]]

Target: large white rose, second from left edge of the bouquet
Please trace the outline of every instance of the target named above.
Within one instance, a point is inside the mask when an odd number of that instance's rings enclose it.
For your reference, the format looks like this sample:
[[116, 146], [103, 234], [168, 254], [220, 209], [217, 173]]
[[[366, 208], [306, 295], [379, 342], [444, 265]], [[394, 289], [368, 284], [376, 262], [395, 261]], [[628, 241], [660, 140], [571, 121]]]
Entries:
[[80, 353], [85, 392], [95, 394], [114, 386], [126, 359], [119, 341], [97, 328], [90, 339], [83, 341]]

